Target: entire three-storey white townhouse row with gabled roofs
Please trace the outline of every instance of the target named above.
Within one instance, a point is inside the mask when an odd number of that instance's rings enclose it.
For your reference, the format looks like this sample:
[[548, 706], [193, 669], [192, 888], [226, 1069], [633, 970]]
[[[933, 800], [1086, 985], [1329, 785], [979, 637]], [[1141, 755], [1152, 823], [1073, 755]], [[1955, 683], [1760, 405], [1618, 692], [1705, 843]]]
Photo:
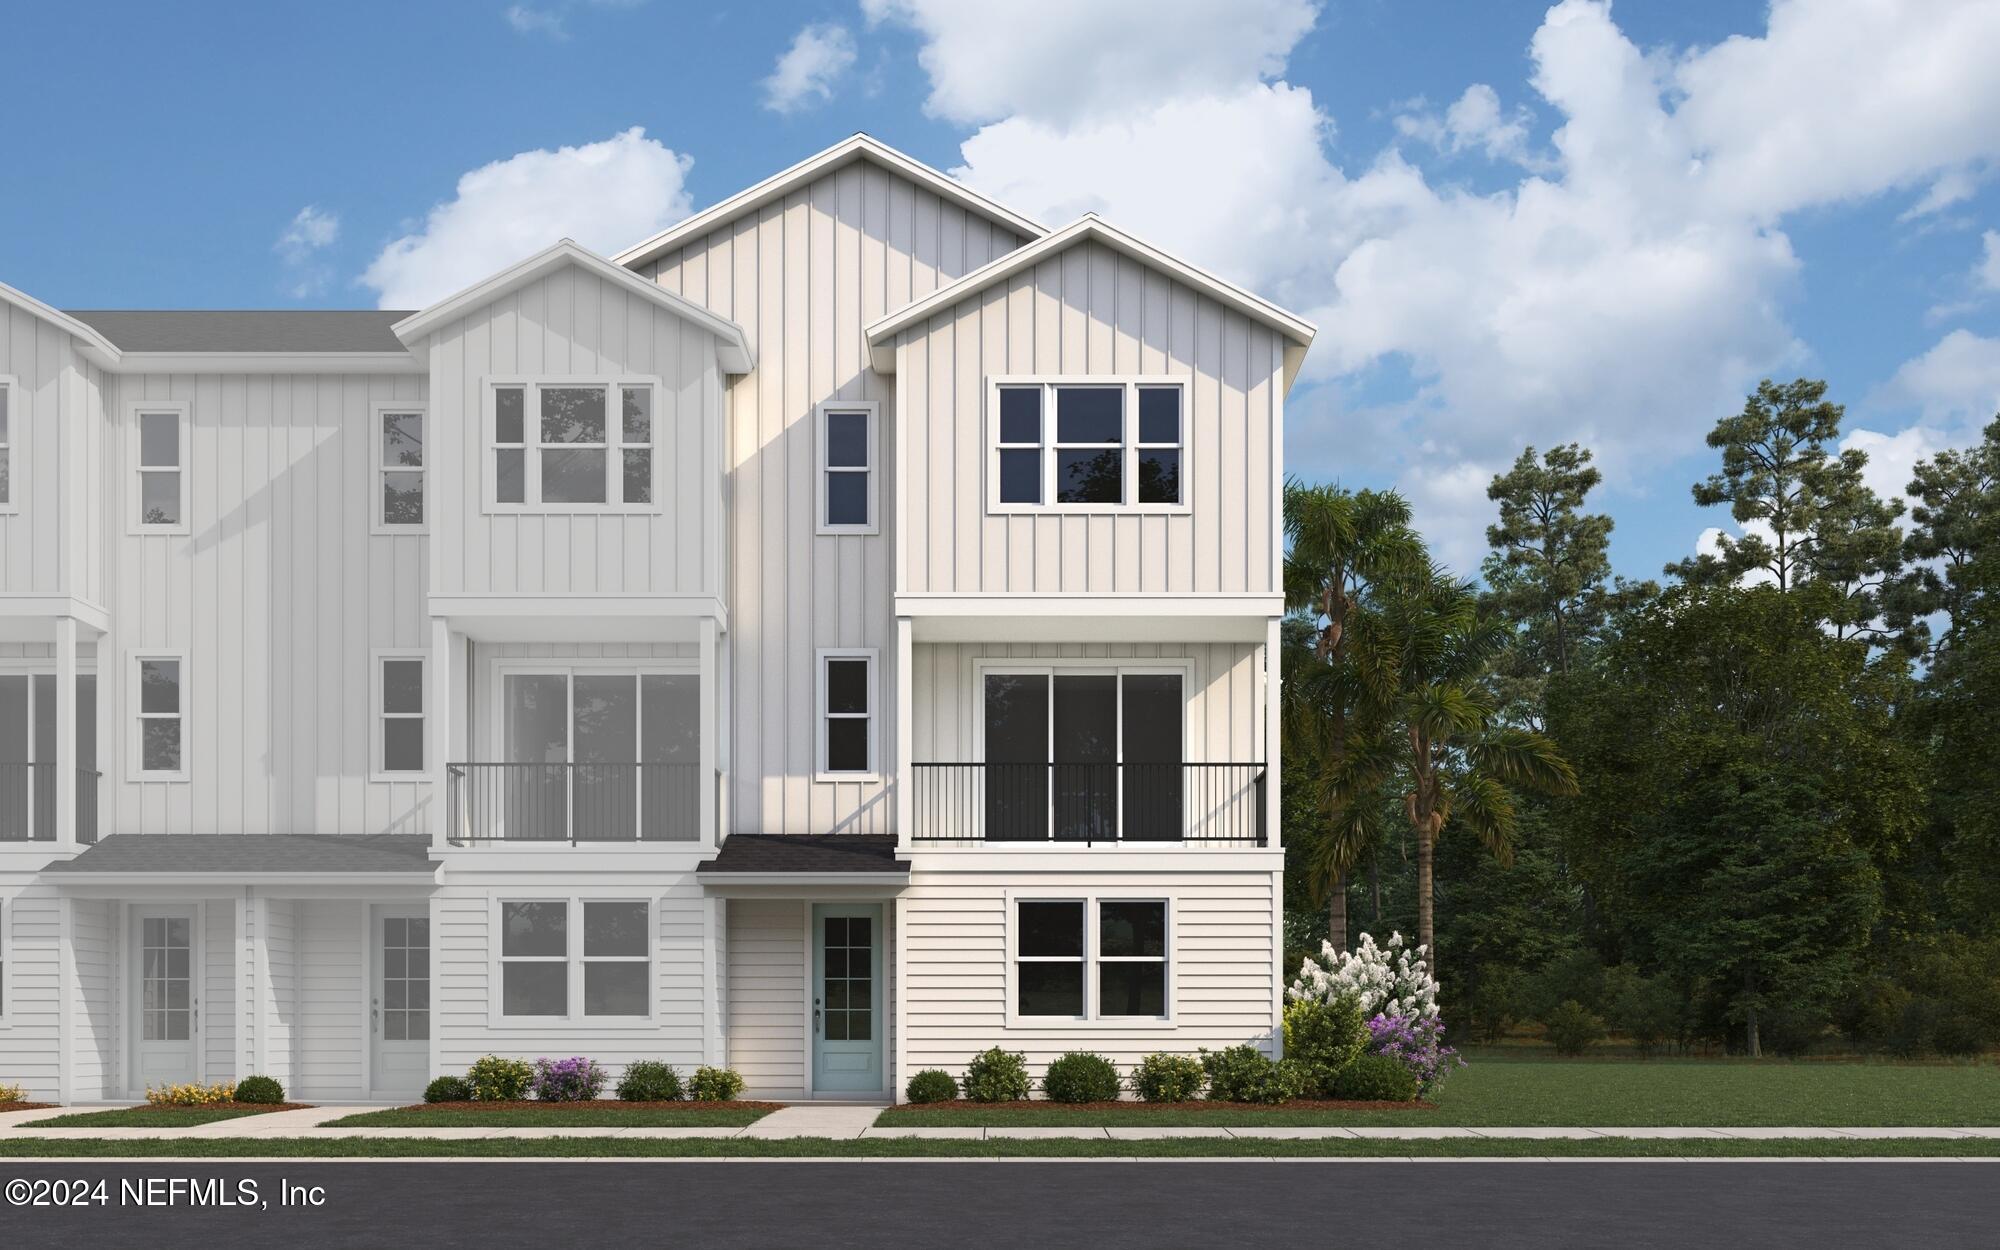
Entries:
[[420, 312], [0, 286], [0, 1078], [1274, 1050], [1310, 340], [866, 136]]

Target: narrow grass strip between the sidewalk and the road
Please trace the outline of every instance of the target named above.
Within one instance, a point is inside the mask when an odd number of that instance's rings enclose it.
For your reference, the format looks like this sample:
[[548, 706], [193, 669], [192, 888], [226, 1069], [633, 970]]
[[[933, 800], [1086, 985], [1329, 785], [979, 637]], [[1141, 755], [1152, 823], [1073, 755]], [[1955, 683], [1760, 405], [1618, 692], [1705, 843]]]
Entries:
[[1168, 1138], [1150, 1142], [912, 1140], [912, 1138], [134, 1138], [0, 1140], [0, 1158], [2000, 1158], [2000, 1140], [1810, 1140], [1680, 1142], [1640, 1138], [1418, 1140], [1326, 1138], [1308, 1142]]

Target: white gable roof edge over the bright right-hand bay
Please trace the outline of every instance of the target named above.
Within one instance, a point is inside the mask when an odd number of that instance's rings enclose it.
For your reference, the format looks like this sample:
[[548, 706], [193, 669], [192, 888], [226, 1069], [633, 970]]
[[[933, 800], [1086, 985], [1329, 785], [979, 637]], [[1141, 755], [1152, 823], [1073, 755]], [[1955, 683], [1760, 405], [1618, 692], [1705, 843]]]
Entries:
[[1216, 278], [1210, 272], [1194, 268], [1186, 260], [1170, 256], [1160, 248], [1144, 240], [1138, 240], [1126, 234], [1124, 230], [1118, 230], [1116, 226], [1106, 224], [1094, 212], [1084, 214], [1082, 218], [1070, 222], [1068, 226], [1056, 230], [1054, 234], [1044, 234], [1042, 238], [1030, 244], [1014, 248], [1006, 256], [1000, 256], [998, 260], [992, 260], [972, 270], [958, 282], [952, 282], [950, 286], [940, 286], [922, 300], [906, 304], [904, 308], [898, 308], [896, 312], [890, 312], [888, 316], [876, 320], [866, 330], [868, 358], [874, 364], [876, 372], [880, 374], [896, 372], [896, 334], [900, 334], [902, 330], [908, 330], [910, 326], [920, 326], [934, 314], [964, 302], [968, 296], [986, 290], [994, 282], [1006, 282], [1014, 274], [1030, 270], [1042, 260], [1048, 260], [1050, 256], [1064, 252], [1080, 242], [1104, 244], [1106, 248], [1130, 256], [1140, 264], [1152, 266], [1154, 270], [1160, 270], [1178, 282], [1186, 282], [1188, 286], [1208, 296], [1210, 300], [1216, 300], [1226, 308], [1234, 308], [1236, 312], [1242, 312], [1250, 320], [1270, 326], [1272, 330], [1282, 334], [1286, 338], [1284, 386], [1286, 390], [1292, 388], [1292, 378], [1298, 376], [1298, 366], [1306, 360], [1306, 348], [1312, 346], [1312, 336], [1318, 334], [1318, 328], [1312, 322], [1294, 312], [1278, 308], [1270, 300], [1256, 296], [1236, 286], [1234, 282], [1224, 282], [1222, 278]]

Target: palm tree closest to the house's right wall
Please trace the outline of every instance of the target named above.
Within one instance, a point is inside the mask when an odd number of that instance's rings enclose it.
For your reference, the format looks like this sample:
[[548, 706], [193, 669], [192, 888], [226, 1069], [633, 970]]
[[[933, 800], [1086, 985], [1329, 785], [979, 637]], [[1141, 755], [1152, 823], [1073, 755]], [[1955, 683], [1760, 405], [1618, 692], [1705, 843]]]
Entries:
[[1348, 946], [1348, 874], [1376, 840], [1374, 784], [1350, 762], [1350, 738], [1376, 728], [1396, 692], [1396, 650], [1372, 598], [1428, 572], [1410, 504], [1394, 492], [1284, 486], [1284, 590], [1292, 614], [1284, 660], [1286, 742], [1304, 752], [1318, 834], [1304, 848], [1308, 886], [1326, 904], [1326, 936]]

